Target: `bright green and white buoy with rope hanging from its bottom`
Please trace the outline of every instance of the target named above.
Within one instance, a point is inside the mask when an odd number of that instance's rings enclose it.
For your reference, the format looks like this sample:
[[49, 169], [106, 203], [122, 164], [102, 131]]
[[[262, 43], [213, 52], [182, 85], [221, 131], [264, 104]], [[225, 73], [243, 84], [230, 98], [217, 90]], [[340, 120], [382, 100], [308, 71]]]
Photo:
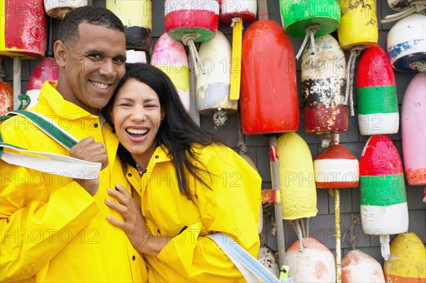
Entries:
[[315, 53], [314, 37], [332, 33], [340, 23], [339, 0], [280, 0], [280, 13], [285, 33], [295, 38], [305, 38], [296, 60], [299, 60], [309, 38], [310, 52]]

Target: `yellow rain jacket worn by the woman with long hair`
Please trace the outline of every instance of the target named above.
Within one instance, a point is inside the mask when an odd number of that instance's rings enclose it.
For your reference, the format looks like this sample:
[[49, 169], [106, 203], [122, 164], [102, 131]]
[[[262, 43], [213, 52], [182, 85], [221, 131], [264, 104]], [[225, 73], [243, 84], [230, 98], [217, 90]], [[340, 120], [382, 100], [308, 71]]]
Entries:
[[143, 176], [131, 166], [127, 171], [141, 195], [147, 228], [173, 237], [157, 257], [144, 255], [149, 282], [245, 282], [229, 257], [204, 236], [226, 233], [257, 257], [261, 177], [226, 146], [195, 151], [212, 173], [202, 173], [212, 190], [191, 176], [193, 201], [180, 194], [173, 161], [160, 146]]

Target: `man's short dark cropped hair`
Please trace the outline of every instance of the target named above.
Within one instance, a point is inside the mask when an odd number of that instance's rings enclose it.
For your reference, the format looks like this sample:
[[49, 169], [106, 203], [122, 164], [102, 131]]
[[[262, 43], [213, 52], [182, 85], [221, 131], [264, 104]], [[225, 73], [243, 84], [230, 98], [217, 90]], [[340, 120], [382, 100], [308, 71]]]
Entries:
[[113, 12], [99, 6], [82, 6], [65, 14], [59, 25], [58, 39], [63, 43], [72, 44], [78, 38], [78, 26], [83, 22], [124, 33], [123, 23]]

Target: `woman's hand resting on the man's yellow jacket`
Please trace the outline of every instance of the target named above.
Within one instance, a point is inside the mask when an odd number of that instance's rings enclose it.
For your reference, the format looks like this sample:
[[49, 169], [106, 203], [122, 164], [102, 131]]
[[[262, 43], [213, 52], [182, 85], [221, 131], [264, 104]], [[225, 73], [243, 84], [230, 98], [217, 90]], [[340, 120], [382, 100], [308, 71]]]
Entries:
[[112, 209], [117, 210], [124, 218], [124, 222], [116, 220], [111, 216], [107, 221], [121, 230], [124, 230], [133, 247], [141, 253], [147, 255], [158, 255], [163, 247], [169, 242], [168, 237], [157, 237], [146, 230], [145, 219], [141, 213], [141, 208], [133, 199], [126, 188], [117, 184], [116, 189], [108, 189], [109, 196], [115, 198], [119, 203], [105, 200], [105, 203]]

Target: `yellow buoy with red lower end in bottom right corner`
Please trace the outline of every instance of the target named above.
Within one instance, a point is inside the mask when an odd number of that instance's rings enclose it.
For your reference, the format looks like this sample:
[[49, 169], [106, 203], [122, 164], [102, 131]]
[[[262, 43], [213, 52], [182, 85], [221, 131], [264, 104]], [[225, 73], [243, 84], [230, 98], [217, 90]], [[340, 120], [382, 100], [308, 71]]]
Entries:
[[396, 235], [383, 271], [388, 283], [425, 283], [426, 249], [422, 240], [414, 233]]

